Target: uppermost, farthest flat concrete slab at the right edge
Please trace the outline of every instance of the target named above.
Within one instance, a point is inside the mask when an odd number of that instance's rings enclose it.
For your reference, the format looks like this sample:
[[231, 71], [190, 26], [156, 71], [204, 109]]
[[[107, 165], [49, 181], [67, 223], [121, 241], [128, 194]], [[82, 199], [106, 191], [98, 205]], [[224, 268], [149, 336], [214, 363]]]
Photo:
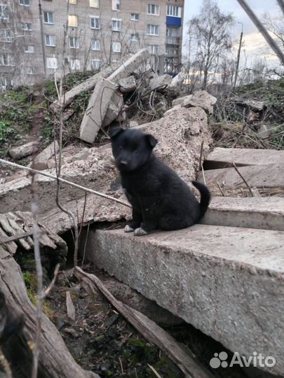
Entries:
[[284, 151], [253, 148], [214, 148], [203, 163], [204, 169], [218, 169], [245, 165], [283, 164]]

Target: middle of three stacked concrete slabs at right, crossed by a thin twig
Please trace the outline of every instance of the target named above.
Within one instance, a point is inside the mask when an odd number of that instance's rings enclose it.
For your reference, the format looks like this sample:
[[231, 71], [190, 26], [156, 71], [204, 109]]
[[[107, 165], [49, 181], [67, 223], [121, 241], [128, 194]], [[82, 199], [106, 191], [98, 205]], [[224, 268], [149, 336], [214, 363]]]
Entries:
[[[251, 165], [249, 167], [238, 167], [250, 187], [257, 188], [283, 188], [284, 186], [284, 165]], [[243, 179], [234, 168], [210, 169], [204, 172], [206, 184], [215, 187], [217, 182], [224, 183], [224, 188], [246, 188]], [[198, 180], [203, 182], [203, 174], [198, 174]]]

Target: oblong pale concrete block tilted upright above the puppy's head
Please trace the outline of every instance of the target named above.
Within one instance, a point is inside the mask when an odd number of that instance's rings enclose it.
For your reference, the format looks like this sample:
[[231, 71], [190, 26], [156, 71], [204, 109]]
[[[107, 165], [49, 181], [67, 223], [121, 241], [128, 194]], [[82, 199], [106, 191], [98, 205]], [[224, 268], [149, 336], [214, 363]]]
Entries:
[[[97, 80], [95, 90], [90, 97], [88, 109], [83, 116], [80, 127], [80, 138], [88, 143], [93, 143], [97, 132], [102, 126], [104, 117], [109, 109], [111, 99], [116, 95], [117, 85], [111, 81], [100, 78]], [[119, 94], [117, 94], [119, 96]]]

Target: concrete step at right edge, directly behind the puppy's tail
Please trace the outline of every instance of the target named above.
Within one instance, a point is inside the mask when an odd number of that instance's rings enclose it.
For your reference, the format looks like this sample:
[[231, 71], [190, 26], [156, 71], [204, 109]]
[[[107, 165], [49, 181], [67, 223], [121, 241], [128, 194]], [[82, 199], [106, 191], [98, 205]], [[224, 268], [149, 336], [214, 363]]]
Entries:
[[284, 198], [213, 197], [201, 223], [284, 231]]

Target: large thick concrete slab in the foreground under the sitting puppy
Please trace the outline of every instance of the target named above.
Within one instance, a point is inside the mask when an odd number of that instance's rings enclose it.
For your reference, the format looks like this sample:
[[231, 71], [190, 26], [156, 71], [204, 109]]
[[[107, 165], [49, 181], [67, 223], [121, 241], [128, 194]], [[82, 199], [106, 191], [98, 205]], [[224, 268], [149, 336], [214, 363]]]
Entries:
[[90, 232], [88, 257], [161, 307], [284, 374], [284, 232], [194, 225], [134, 237]]

